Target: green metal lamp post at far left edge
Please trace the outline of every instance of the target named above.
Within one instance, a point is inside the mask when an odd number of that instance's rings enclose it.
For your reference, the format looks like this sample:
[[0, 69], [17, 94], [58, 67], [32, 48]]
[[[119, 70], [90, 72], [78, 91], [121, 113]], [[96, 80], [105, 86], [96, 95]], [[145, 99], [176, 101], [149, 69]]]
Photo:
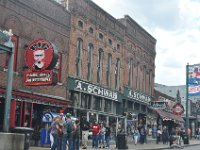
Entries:
[[3, 131], [9, 132], [9, 121], [10, 121], [10, 103], [12, 99], [12, 81], [13, 81], [13, 62], [14, 62], [14, 46], [11, 41], [12, 30], [1, 31], [0, 39], [6, 41], [4, 44], [0, 44], [0, 52], [6, 52], [8, 57], [8, 71], [7, 71], [7, 81], [6, 81], [6, 101], [5, 101], [5, 111], [4, 111], [4, 122]]

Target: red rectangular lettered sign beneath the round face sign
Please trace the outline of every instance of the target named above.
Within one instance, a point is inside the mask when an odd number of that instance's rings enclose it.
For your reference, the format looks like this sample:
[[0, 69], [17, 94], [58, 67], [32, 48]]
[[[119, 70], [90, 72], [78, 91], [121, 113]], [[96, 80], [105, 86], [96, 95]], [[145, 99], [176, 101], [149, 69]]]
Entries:
[[25, 85], [48, 85], [53, 83], [53, 71], [44, 70], [39, 71], [26, 71], [24, 72]]

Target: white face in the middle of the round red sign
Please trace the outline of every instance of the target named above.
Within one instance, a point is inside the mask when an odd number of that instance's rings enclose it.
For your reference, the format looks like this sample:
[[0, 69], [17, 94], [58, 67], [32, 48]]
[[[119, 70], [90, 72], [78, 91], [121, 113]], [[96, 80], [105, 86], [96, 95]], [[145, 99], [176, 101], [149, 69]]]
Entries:
[[34, 57], [34, 64], [33, 68], [35, 70], [41, 70], [44, 65], [45, 65], [45, 52], [44, 50], [36, 50], [33, 52], [33, 57]]

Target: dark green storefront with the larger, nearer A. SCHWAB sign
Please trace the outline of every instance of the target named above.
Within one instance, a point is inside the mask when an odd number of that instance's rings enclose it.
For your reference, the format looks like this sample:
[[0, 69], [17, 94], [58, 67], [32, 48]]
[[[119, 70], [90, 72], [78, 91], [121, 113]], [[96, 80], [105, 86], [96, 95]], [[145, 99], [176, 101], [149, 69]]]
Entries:
[[122, 115], [119, 92], [73, 77], [68, 78], [67, 89], [71, 102], [68, 110], [74, 116], [86, 116], [90, 123], [97, 120], [109, 124], [112, 132], [116, 132], [118, 125], [125, 130], [126, 117]]

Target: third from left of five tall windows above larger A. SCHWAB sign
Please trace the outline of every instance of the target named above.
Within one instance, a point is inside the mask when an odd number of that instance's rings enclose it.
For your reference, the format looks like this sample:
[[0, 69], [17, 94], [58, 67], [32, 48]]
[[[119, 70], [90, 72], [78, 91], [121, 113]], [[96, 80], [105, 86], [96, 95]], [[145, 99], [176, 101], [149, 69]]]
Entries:
[[100, 83], [102, 78], [102, 59], [103, 59], [103, 50], [100, 48], [98, 54], [98, 63], [97, 63], [97, 83]]

